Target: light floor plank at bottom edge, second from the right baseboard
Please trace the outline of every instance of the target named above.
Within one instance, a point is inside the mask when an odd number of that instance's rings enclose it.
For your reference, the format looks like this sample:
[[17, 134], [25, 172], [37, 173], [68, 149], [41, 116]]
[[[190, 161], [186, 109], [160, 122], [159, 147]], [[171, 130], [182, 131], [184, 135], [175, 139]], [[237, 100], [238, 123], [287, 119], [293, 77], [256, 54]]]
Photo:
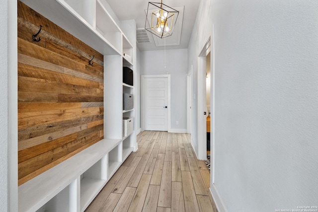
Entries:
[[184, 206], [186, 212], [198, 212], [199, 205], [196, 199], [191, 174], [189, 171], [182, 171], [182, 188], [184, 196]]

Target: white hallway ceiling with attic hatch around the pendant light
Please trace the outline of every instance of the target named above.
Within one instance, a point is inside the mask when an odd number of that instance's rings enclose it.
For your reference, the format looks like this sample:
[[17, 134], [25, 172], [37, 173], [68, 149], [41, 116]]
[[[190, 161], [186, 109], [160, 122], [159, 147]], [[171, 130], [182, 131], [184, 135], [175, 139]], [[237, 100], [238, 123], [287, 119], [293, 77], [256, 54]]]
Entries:
[[[117, 15], [119, 20], [131, 20], [135, 19], [137, 22], [137, 29], [145, 28], [146, 13], [148, 2], [147, 0], [107, 0], [108, 4]], [[156, 0], [160, 2], [160, 0]], [[190, 41], [193, 25], [197, 15], [200, 0], [162, 0], [163, 4], [166, 4], [174, 9], [184, 8], [183, 13], [180, 12], [178, 16], [178, 21], [182, 25], [176, 26], [173, 31], [172, 36], [165, 38], [165, 48], [166, 49], [186, 49]], [[180, 38], [178, 38], [178, 32], [180, 33]], [[160, 39], [157, 36], [148, 32], [151, 43], [137, 44], [140, 51], [150, 51], [150, 50], [162, 50], [164, 49], [164, 39]], [[161, 47], [156, 47], [155, 39], [157, 39], [157, 44]], [[176, 42], [177, 41], [177, 42]], [[177, 44], [179, 43], [179, 44]]]

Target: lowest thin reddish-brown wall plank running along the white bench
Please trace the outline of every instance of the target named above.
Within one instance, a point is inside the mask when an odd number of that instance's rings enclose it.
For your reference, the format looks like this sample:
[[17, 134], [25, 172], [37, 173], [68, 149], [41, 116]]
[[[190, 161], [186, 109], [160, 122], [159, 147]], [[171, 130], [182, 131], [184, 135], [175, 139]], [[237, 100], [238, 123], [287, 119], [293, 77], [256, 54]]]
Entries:
[[57, 164], [59, 164], [59, 163], [63, 162], [64, 160], [66, 160], [66, 159], [72, 157], [73, 155], [79, 153], [81, 150], [83, 150], [83, 149], [85, 149], [85, 148], [88, 148], [89, 146], [93, 145], [94, 143], [96, 143], [96, 142], [98, 142], [98, 141], [100, 141], [99, 138], [98, 138], [97, 140], [95, 140], [95, 141], [92, 141], [92, 142], [90, 142], [90, 143], [87, 143], [86, 145], [84, 145], [84, 146], [82, 146], [82, 147], [76, 149], [76, 150], [73, 151], [73, 152], [70, 152], [69, 154], [67, 154], [67, 155], [65, 155], [65, 156], [63, 156], [63, 157], [61, 157], [61, 158], [59, 158], [58, 160], [53, 161], [52, 163], [48, 164], [47, 166], [44, 166], [44, 167], [42, 167], [42, 168], [40, 168], [40, 169], [38, 169], [38, 170], [36, 170], [36, 171], [34, 171], [34, 172], [32, 172], [32, 173], [26, 175], [26, 176], [24, 176], [24, 177], [18, 179], [18, 186], [21, 185], [21, 184], [23, 184], [23, 183], [25, 183], [25, 182], [27, 182], [27, 181], [29, 181], [29, 180], [31, 180], [32, 178], [38, 176], [39, 174], [41, 174], [41, 173], [43, 173], [43, 172], [49, 170], [49, 169], [52, 168], [53, 166], [56, 166]]

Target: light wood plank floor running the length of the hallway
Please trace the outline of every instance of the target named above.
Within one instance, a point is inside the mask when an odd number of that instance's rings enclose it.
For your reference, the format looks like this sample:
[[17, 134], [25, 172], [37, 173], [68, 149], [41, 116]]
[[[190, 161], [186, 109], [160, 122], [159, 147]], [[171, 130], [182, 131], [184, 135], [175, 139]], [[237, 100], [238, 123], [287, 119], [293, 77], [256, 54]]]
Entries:
[[217, 212], [189, 134], [144, 131], [86, 212]]

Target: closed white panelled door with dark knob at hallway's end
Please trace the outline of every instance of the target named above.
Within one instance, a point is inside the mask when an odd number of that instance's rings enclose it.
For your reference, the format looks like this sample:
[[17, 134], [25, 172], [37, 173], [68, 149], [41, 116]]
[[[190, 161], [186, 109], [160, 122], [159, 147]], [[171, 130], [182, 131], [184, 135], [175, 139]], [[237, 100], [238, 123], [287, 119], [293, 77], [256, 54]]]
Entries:
[[144, 130], [168, 131], [169, 77], [143, 76]]

